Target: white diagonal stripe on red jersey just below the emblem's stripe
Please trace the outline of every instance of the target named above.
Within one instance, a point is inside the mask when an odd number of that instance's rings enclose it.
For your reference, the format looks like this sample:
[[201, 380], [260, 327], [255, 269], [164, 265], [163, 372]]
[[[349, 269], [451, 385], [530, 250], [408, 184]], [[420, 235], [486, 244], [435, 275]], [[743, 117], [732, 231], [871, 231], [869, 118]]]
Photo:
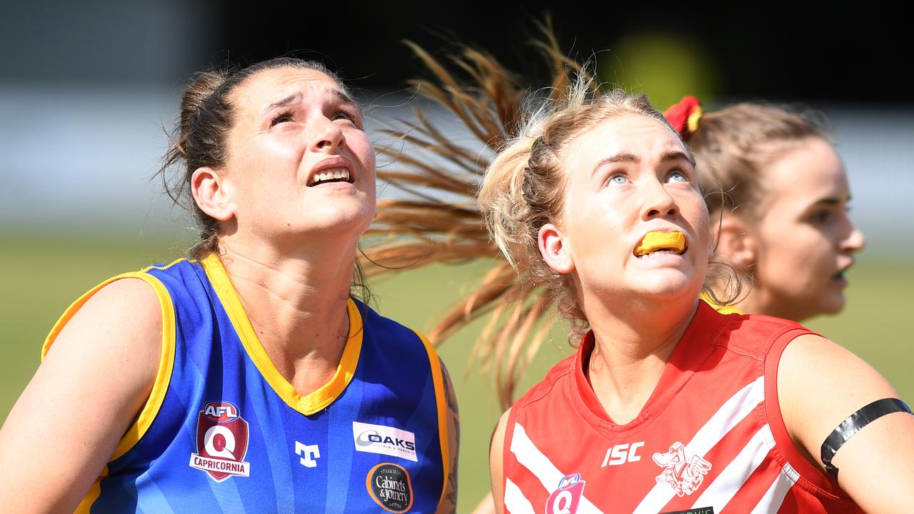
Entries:
[[[770, 440], [772, 444], [769, 444]], [[692, 509], [708, 505], [713, 505], [715, 509], [724, 509], [737, 494], [739, 488], [749, 479], [749, 475], [752, 475], [765, 457], [771, 453], [773, 443], [774, 436], [771, 434], [771, 427], [766, 424], [749, 439], [749, 443], [743, 446], [739, 455], [730, 461], [730, 464], [711, 482], [705, 492], [695, 500]]]

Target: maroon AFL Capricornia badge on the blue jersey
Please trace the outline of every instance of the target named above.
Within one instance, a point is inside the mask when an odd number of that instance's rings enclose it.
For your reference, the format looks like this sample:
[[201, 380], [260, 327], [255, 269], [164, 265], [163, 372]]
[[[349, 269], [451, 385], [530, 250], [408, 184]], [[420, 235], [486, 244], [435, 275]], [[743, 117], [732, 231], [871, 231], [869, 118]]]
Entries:
[[248, 422], [230, 402], [207, 402], [197, 416], [197, 453], [190, 454], [190, 466], [206, 471], [221, 482], [228, 477], [250, 476]]

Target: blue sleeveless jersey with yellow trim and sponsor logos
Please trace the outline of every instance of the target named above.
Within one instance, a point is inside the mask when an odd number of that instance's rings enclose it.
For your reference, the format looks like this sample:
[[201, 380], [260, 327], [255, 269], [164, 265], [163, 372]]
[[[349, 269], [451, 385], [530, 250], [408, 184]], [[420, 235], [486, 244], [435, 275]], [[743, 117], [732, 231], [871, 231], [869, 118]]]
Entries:
[[216, 256], [125, 273], [162, 306], [153, 391], [78, 512], [434, 512], [449, 448], [429, 342], [355, 300], [335, 376], [299, 395]]

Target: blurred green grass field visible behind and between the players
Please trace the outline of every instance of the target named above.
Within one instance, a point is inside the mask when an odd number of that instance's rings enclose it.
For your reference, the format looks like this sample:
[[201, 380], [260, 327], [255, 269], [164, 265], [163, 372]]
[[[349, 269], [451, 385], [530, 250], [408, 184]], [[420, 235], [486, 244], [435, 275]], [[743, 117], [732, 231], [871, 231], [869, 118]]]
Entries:
[[[0, 270], [0, 421], [16, 402], [35, 372], [44, 337], [61, 311], [77, 296], [105, 278], [142, 268], [151, 262], [171, 262], [184, 242], [138, 236], [112, 237], [2, 233]], [[430, 327], [441, 309], [465, 291], [466, 284], [485, 271], [484, 262], [435, 266], [370, 284], [374, 306], [385, 316], [420, 330]], [[905, 320], [914, 306], [914, 266], [909, 261], [864, 254], [850, 273], [849, 303], [842, 316], [809, 324], [850, 348], [881, 371], [903, 398], [914, 398], [914, 340]], [[491, 380], [471, 370], [464, 378], [474, 326], [440, 349], [457, 389], [462, 419], [460, 464], [461, 511], [469, 511], [488, 490], [487, 446], [499, 410]], [[539, 380], [551, 363], [569, 353], [557, 327], [522, 383], [522, 390]]]

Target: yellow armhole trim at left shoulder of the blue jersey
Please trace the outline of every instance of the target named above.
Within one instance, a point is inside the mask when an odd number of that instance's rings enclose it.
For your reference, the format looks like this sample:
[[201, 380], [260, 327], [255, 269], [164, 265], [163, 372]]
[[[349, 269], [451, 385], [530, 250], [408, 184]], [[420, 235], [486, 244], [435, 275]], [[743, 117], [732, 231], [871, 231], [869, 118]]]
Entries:
[[143, 434], [145, 434], [146, 431], [149, 430], [150, 425], [152, 425], [155, 416], [162, 407], [162, 402], [165, 401], [165, 392], [168, 391], [172, 369], [175, 365], [175, 307], [172, 304], [171, 295], [168, 294], [168, 290], [165, 289], [165, 284], [162, 284], [162, 282], [149, 273], [133, 272], [114, 276], [101, 284], [96, 285], [91, 288], [89, 292], [77, 298], [75, 302], [67, 307], [67, 310], [64, 311], [57, 323], [54, 324], [54, 327], [51, 328], [48, 337], [41, 347], [41, 359], [44, 360], [51, 345], [54, 344], [55, 339], [60, 335], [60, 331], [63, 330], [63, 327], [66, 327], [69, 320], [76, 315], [80, 308], [82, 308], [82, 305], [85, 305], [102, 287], [124, 278], [138, 278], [142, 280], [153, 288], [155, 295], [158, 297], [159, 306], [162, 312], [162, 352], [159, 356], [159, 365], [155, 372], [155, 381], [153, 382], [153, 389], [149, 393], [149, 398], [146, 399], [146, 402], [143, 404], [143, 408], [137, 415], [136, 420], [118, 442], [117, 447], [114, 449], [114, 454], [109, 459], [110, 461], [127, 453], [133, 448], [133, 445], [140, 441], [140, 438], [143, 437]]

